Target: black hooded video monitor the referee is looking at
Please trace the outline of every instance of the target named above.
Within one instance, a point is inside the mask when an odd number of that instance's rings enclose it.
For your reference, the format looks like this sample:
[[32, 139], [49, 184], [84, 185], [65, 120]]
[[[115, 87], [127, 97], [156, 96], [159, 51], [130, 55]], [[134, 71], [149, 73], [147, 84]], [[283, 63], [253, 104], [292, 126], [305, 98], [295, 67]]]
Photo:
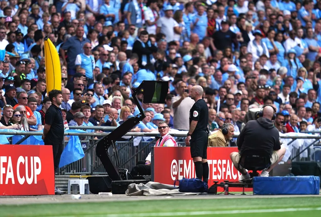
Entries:
[[144, 103], [165, 103], [168, 81], [143, 81]]

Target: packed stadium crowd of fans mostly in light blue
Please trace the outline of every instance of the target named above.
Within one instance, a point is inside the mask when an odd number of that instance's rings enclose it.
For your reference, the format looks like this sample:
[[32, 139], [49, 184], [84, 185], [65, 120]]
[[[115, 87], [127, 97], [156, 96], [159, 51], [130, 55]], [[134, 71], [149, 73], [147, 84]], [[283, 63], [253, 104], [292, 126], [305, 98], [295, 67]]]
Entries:
[[267, 104], [283, 133], [320, 128], [321, 1], [3, 0], [1, 129], [43, 128], [46, 37], [71, 126], [118, 126], [139, 113], [131, 88], [162, 80], [166, 103], [142, 104], [133, 132], [157, 132], [160, 121], [188, 130], [194, 85], [212, 131], [232, 123], [238, 132], [249, 108]]

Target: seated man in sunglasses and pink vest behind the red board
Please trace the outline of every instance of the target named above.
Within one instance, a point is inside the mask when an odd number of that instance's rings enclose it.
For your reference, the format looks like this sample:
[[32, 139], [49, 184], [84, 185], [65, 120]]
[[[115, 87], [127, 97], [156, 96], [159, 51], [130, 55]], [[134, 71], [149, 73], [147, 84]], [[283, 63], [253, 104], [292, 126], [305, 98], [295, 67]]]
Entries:
[[[160, 139], [157, 140], [155, 147], [172, 147], [177, 146], [177, 143], [171, 135], [169, 135], [169, 127], [166, 121], [160, 121], [158, 123], [158, 132], [160, 133]], [[130, 174], [134, 177], [139, 175], [151, 175], [151, 160], [152, 153], [149, 153], [145, 159], [145, 164], [139, 164], [138, 162]]]

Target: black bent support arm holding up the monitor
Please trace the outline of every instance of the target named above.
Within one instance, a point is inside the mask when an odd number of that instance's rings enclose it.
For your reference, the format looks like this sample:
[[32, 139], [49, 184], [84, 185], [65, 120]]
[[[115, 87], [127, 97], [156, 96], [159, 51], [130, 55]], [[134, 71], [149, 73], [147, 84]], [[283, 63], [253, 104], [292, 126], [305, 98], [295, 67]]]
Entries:
[[[140, 102], [138, 101], [136, 95], [141, 92], [141, 89], [143, 88], [143, 83], [144, 81], [138, 86], [138, 88], [132, 88], [133, 90], [133, 94], [132, 97], [134, 99], [134, 102], [136, 103], [138, 110], [139, 110], [139, 114], [137, 114], [135, 117], [133, 118], [129, 118], [127, 119], [123, 124], [121, 124], [119, 127], [117, 127], [116, 129], [114, 129], [110, 134], [108, 134], [107, 136], [105, 136], [104, 138], [102, 138], [97, 146], [96, 146], [96, 154], [99, 157], [102, 165], [104, 166], [106, 172], [109, 175], [109, 178], [113, 181], [118, 181], [118, 180], [122, 180], [123, 178], [120, 176], [119, 174], [119, 157], [118, 154], [115, 153], [117, 152], [117, 147], [115, 145], [115, 142], [120, 139], [121, 137], [123, 137], [127, 132], [129, 132], [131, 129], [133, 129], [140, 121], [142, 121], [146, 115], [144, 113], [144, 110], [140, 104]], [[114, 164], [114, 162], [112, 161], [112, 159], [110, 159], [110, 155], [108, 153], [108, 148], [110, 146], [113, 146], [113, 150], [115, 153], [115, 157], [118, 158], [116, 159], [116, 165]]]

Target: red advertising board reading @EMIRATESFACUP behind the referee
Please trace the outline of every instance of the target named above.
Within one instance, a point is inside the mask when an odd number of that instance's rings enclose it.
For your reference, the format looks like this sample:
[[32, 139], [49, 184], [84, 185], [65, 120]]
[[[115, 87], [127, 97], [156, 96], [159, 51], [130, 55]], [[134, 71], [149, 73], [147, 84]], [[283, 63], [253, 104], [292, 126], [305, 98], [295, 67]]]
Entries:
[[[152, 147], [153, 174], [155, 182], [173, 185], [176, 179], [195, 178], [195, 168], [189, 147]], [[237, 147], [208, 147], [209, 165], [208, 185], [213, 181], [238, 181], [241, 173], [237, 171], [230, 159], [230, 153], [238, 151]], [[232, 191], [241, 191], [233, 188]]]

